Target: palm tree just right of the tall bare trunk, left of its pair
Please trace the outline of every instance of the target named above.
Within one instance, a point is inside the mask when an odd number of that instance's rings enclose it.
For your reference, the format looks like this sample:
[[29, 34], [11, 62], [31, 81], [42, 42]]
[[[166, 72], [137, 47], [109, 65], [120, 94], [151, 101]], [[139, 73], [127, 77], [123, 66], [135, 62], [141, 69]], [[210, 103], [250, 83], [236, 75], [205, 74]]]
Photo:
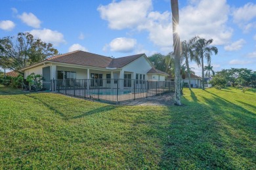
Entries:
[[[181, 57], [182, 59], [185, 59], [185, 63], [186, 63], [186, 73], [188, 74], [188, 88], [189, 90], [191, 90], [191, 86], [190, 86], [190, 67], [189, 67], [189, 60], [190, 61], [196, 61], [195, 55], [194, 55], [194, 44], [195, 42], [199, 39], [199, 37], [193, 37], [192, 39], [190, 39], [188, 42], [186, 41], [182, 41], [181, 42]], [[198, 61], [196, 61], [198, 63]]]

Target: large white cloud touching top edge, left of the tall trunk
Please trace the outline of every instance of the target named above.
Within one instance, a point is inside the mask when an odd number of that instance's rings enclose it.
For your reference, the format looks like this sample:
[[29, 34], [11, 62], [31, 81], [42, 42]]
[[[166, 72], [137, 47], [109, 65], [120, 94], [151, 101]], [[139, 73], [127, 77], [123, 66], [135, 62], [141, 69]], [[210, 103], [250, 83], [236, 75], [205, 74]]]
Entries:
[[148, 0], [123, 0], [98, 7], [100, 17], [108, 21], [111, 29], [134, 27], [146, 18], [152, 9], [152, 2]]

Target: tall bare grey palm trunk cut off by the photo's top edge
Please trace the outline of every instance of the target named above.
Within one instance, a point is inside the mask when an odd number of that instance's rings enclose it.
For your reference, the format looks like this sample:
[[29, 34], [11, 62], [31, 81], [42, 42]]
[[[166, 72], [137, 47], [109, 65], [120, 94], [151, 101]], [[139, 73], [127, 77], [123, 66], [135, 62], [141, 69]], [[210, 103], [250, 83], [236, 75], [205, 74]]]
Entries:
[[171, 0], [173, 19], [173, 48], [175, 54], [175, 105], [181, 105], [181, 41], [179, 36], [179, 4]]

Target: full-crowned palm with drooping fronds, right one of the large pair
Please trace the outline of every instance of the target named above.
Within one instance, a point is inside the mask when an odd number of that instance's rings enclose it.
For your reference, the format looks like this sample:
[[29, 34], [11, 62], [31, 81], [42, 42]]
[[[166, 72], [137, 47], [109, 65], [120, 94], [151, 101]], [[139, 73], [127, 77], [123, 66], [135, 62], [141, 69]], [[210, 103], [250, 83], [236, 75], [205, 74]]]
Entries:
[[[195, 52], [196, 52], [196, 57], [198, 58], [197, 60], [201, 60], [201, 65], [202, 65], [202, 79], [203, 79], [203, 90], [204, 90], [204, 67], [203, 67], [203, 58], [207, 60], [207, 63], [211, 61], [211, 55], [218, 54], [218, 48], [215, 46], [209, 46], [213, 42], [213, 39], [198, 39], [195, 44]], [[198, 63], [199, 64], [199, 63]]]

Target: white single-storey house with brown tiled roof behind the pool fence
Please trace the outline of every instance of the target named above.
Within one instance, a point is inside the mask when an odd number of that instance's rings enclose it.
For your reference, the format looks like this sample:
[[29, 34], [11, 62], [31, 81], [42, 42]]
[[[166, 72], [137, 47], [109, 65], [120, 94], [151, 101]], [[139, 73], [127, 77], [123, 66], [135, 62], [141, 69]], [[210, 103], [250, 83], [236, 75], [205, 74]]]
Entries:
[[[44, 82], [51, 80], [91, 79], [91, 86], [102, 86], [101, 79], [136, 79], [164, 81], [167, 73], [155, 69], [145, 54], [110, 58], [77, 50], [53, 56], [22, 69], [24, 78], [31, 73], [43, 75]], [[110, 82], [110, 81], [109, 81]], [[129, 82], [129, 81], [126, 81]], [[123, 84], [123, 86], [131, 86]], [[48, 87], [50, 88], [50, 86]]]

